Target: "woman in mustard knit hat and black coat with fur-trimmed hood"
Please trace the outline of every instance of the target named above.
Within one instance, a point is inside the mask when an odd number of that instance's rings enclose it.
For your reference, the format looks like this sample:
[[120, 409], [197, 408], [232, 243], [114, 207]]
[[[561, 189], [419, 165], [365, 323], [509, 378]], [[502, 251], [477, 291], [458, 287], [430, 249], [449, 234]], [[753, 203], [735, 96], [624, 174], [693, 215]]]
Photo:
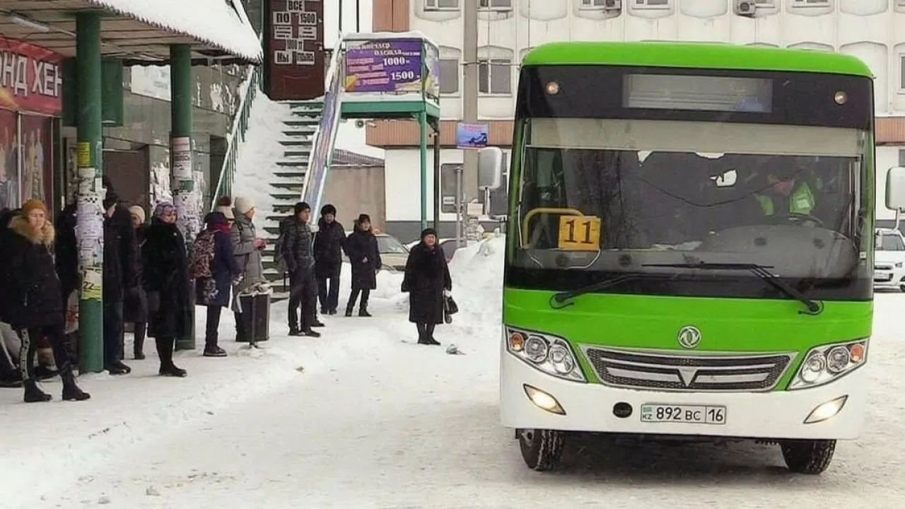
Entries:
[[22, 370], [26, 403], [50, 401], [34, 378], [33, 359], [37, 340], [46, 337], [62, 379], [62, 399], [89, 399], [75, 383], [69, 353], [66, 351], [65, 317], [60, 280], [53, 264], [54, 229], [47, 220], [47, 207], [40, 200], [25, 202], [22, 212], [10, 221], [14, 235], [5, 235], [4, 259], [0, 266], [6, 274], [3, 302], [8, 319], [22, 339]]

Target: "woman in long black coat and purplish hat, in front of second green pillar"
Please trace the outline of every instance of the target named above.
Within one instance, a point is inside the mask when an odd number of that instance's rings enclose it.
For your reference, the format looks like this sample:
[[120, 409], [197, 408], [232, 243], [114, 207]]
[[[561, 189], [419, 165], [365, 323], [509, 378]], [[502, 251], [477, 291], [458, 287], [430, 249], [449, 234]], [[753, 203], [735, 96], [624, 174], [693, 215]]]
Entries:
[[176, 338], [192, 331], [191, 284], [188, 279], [186, 240], [176, 227], [176, 208], [161, 203], [154, 209], [141, 250], [142, 280], [148, 293], [148, 336], [157, 343], [159, 374], [185, 377], [176, 368], [173, 350]]

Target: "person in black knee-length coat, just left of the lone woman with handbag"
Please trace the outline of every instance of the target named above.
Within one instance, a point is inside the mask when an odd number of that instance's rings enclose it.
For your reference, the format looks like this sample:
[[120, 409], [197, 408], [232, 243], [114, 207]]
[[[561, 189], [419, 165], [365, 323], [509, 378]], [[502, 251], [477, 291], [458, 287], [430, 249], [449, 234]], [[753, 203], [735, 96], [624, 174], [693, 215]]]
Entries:
[[346, 255], [352, 264], [352, 293], [348, 296], [346, 316], [352, 316], [358, 293], [361, 293], [358, 316], [371, 316], [371, 313], [367, 312], [367, 300], [371, 296], [371, 290], [377, 287], [377, 271], [380, 270], [382, 262], [377, 238], [371, 231], [371, 218], [367, 214], [358, 216], [352, 233], [348, 234]]

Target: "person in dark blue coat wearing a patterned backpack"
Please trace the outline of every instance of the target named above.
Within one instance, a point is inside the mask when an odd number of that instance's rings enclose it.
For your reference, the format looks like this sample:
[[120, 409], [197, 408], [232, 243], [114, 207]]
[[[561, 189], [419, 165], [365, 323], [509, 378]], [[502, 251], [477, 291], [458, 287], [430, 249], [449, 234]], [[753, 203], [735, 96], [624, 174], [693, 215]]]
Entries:
[[195, 278], [195, 303], [207, 307], [205, 357], [226, 357], [217, 345], [220, 312], [230, 303], [233, 283], [242, 277], [242, 267], [233, 256], [233, 226], [222, 212], [205, 216], [205, 231], [195, 239], [193, 268], [206, 257], [210, 275]]

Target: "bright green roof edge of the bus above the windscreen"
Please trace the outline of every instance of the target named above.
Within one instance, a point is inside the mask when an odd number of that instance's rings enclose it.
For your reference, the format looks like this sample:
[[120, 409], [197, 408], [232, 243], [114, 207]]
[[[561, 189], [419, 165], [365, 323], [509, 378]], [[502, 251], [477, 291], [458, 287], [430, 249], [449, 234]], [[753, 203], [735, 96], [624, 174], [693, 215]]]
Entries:
[[529, 51], [522, 64], [830, 72], [873, 77], [867, 64], [851, 55], [731, 43], [670, 41], [547, 43]]

